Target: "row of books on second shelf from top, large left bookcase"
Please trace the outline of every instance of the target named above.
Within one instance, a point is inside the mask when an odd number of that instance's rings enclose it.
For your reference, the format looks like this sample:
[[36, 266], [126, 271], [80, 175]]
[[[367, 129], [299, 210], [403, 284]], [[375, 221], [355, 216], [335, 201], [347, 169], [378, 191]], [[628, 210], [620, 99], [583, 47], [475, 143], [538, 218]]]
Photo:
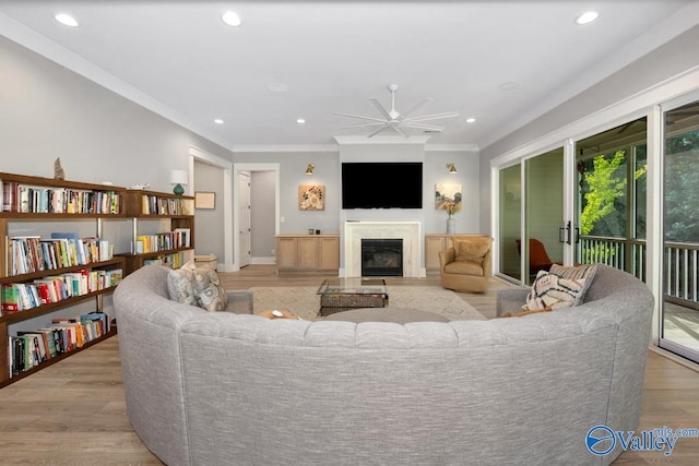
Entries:
[[55, 271], [75, 265], [108, 261], [114, 246], [97, 237], [79, 238], [74, 232], [54, 232], [50, 239], [40, 236], [8, 238], [8, 275]]

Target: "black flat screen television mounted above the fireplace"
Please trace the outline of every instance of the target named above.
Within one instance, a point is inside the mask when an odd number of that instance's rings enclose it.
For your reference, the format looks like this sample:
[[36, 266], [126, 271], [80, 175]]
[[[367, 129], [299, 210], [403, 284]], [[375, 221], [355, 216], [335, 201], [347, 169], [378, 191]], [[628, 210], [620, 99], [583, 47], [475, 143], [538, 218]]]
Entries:
[[343, 163], [342, 208], [423, 208], [422, 162]]

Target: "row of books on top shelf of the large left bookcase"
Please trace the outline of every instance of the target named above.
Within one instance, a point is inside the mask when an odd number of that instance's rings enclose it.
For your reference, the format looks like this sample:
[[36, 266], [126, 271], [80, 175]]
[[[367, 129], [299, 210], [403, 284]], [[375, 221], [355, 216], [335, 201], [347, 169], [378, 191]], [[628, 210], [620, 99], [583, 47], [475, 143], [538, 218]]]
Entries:
[[56, 214], [119, 214], [121, 195], [116, 191], [46, 188], [2, 181], [2, 211]]

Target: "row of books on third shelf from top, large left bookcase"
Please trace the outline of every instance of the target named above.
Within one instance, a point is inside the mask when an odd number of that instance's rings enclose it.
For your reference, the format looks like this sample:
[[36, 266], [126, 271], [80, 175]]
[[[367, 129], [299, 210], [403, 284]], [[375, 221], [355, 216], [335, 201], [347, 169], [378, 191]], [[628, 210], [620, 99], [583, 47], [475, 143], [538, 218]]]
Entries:
[[50, 304], [117, 286], [123, 277], [121, 268], [110, 271], [68, 272], [28, 283], [2, 284], [2, 311], [15, 312]]

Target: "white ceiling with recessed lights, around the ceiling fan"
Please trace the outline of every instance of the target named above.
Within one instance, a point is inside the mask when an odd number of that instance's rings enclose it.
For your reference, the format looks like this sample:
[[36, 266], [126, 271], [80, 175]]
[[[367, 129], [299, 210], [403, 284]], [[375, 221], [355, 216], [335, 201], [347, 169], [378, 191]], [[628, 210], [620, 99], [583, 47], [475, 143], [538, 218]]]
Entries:
[[[0, 33], [230, 150], [310, 147], [372, 129], [369, 100], [483, 148], [699, 23], [692, 0], [5, 1]], [[235, 11], [230, 27], [222, 13]], [[574, 24], [584, 11], [597, 21]], [[80, 25], [58, 23], [69, 13]], [[60, 47], [56, 47], [58, 44]], [[298, 123], [303, 118], [305, 123]], [[475, 122], [466, 122], [474, 118]], [[223, 123], [215, 123], [221, 119]], [[375, 139], [396, 136], [387, 130]]]

